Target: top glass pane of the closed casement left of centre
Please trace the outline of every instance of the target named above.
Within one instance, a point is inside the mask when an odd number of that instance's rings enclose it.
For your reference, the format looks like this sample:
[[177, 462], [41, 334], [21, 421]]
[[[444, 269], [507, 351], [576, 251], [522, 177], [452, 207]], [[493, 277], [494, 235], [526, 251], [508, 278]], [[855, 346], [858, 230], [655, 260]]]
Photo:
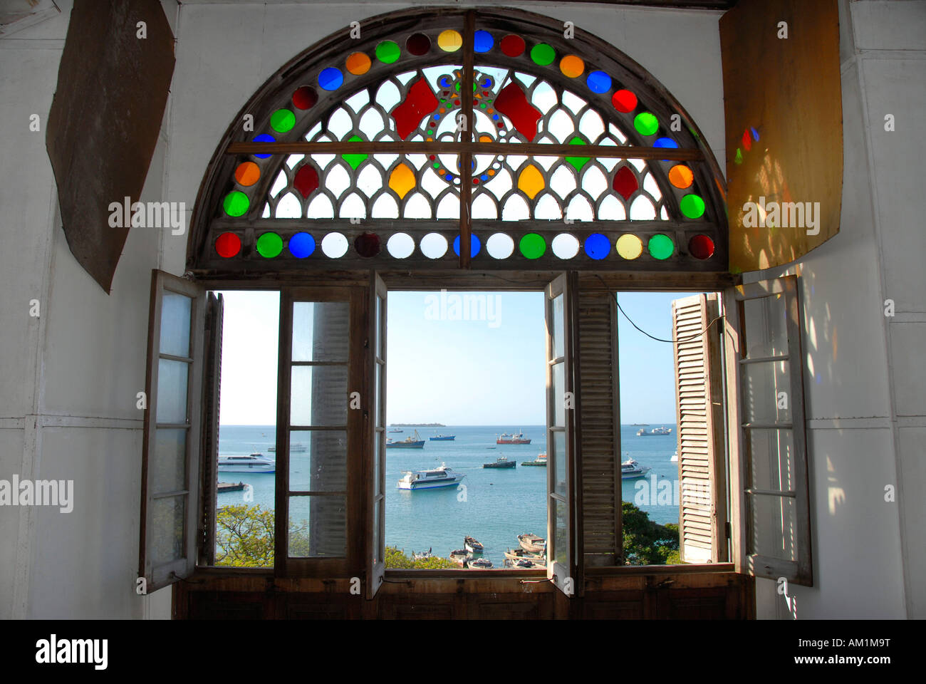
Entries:
[[350, 305], [293, 302], [293, 361], [347, 361]]

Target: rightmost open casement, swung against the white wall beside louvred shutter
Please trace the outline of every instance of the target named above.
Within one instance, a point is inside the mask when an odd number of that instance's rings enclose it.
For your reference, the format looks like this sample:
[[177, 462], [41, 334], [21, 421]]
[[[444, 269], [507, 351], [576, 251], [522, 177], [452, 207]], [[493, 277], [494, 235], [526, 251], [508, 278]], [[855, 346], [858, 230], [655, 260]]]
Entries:
[[724, 309], [736, 568], [812, 586], [797, 278], [737, 286]]

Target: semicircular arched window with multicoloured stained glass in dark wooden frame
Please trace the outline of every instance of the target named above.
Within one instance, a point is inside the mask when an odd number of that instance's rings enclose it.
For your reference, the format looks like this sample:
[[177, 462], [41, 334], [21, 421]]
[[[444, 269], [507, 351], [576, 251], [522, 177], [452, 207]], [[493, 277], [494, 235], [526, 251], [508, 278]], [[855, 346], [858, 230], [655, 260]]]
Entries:
[[187, 268], [725, 272], [723, 180], [694, 121], [568, 33], [408, 10], [307, 49], [232, 120]]

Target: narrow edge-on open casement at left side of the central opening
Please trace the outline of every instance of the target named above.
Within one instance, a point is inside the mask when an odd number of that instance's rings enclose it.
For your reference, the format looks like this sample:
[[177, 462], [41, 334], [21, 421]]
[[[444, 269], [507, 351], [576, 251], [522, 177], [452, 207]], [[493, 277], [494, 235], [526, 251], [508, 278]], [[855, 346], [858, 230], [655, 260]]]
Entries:
[[[369, 324], [373, 400], [372, 414], [368, 418], [368, 434], [372, 433], [372, 476], [367, 478], [369, 500], [368, 510], [369, 548], [367, 551], [367, 598], [372, 599], [382, 585], [385, 572], [385, 487], [386, 487], [386, 285], [378, 273], [370, 274]], [[368, 460], [369, 462], [369, 460]]]

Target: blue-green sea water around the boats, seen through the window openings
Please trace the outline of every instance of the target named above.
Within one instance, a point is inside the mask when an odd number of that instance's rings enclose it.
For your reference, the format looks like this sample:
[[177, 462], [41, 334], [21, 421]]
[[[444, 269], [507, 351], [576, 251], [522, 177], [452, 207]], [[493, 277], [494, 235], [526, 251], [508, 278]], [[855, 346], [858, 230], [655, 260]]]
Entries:
[[[645, 429], [666, 426], [669, 435], [637, 437], [641, 425], [620, 426], [621, 461], [633, 458], [651, 468], [644, 478], [623, 480], [622, 498], [635, 502], [660, 524], [679, 521], [678, 500], [670, 492], [678, 479], [678, 463], [672, 462], [677, 449], [675, 424], [651, 424]], [[505, 551], [518, 547], [519, 534], [546, 536], [546, 468], [524, 467], [523, 461], [533, 461], [546, 452], [544, 425], [447, 425], [445, 427], [387, 428], [401, 433], [387, 437], [404, 439], [414, 435], [425, 439], [423, 449], [386, 450], [386, 545], [395, 546], [411, 555], [413, 551], [428, 551], [444, 558], [463, 547], [464, 537], [474, 537], [485, 547], [483, 556], [501, 567]], [[522, 431], [532, 439], [526, 445], [496, 445], [501, 433]], [[453, 441], [431, 441], [437, 434], [455, 435]], [[236, 455], [262, 452], [276, 443], [273, 425], [219, 425], [219, 454]], [[518, 462], [513, 469], [482, 468], [499, 456]], [[291, 455], [293, 464], [305, 462], [305, 453]], [[446, 464], [466, 475], [457, 487], [409, 491], [396, 488], [407, 470], [425, 470]], [[244, 482], [253, 487], [254, 500], [267, 509], [274, 507], [274, 474], [219, 473], [222, 482]], [[666, 481], [669, 482], [666, 482]], [[638, 484], [639, 483], [639, 484]], [[465, 494], [465, 496], [464, 496]], [[219, 494], [218, 505], [243, 502], [243, 493]], [[463, 499], [463, 500], [461, 500]]]

